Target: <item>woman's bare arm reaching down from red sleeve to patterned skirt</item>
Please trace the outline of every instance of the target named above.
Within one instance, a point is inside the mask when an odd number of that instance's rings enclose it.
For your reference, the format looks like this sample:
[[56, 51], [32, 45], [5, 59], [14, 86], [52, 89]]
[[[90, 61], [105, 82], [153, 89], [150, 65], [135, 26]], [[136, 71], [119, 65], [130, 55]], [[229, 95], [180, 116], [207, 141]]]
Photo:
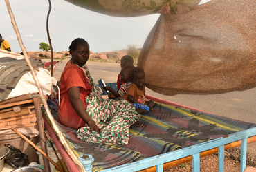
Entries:
[[84, 109], [84, 104], [80, 99], [79, 87], [71, 87], [70, 89], [68, 89], [68, 96], [72, 107], [75, 109], [76, 113], [82, 118], [82, 120], [84, 120], [84, 122], [86, 122], [86, 124], [90, 127], [90, 131], [96, 131], [100, 133], [100, 128], [95, 124], [95, 122], [91, 119], [91, 117]]

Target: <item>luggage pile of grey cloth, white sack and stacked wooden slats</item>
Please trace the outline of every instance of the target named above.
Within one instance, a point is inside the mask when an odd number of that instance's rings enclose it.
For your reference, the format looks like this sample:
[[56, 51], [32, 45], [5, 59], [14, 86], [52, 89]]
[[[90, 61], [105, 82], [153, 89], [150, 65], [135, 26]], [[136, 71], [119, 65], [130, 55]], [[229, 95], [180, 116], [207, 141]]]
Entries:
[[[30, 58], [39, 80], [44, 96], [52, 92], [53, 78], [50, 74], [51, 64], [45, 64], [41, 59]], [[54, 69], [57, 63], [55, 62]], [[44, 69], [46, 67], [46, 69]], [[48, 67], [48, 68], [47, 68]], [[35, 149], [23, 140], [12, 128], [28, 137], [34, 144], [39, 142], [37, 127], [37, 113], [41, 112], [37, 85], [25, 59], [0, 56], [0, 147], [12, 144], [28, 159], [38, 159]]]

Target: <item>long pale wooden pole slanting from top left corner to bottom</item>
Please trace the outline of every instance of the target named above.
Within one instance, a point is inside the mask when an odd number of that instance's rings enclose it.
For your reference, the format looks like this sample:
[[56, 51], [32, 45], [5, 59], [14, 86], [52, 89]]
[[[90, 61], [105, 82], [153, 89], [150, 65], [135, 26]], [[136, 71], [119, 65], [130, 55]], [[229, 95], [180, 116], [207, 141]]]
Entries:
[[46, 109], [46, 114], [48, 115], [48, 118], [51, 120], [51, 123], [53, 125], [53, 129], [55, 130], [55, 132], [57, 133], [57, 136], [59, 136], [60, 138], [60, 142], [62, 143], [63, 147], [66, 149], [68, 155], [70, 155], [71, 159], [73, 160], [73, 162], [75, 163], [75, 165], [77, 166], [77, 168], [81, 171], [81, 172], [86, 172], [86, 170], [84, 169], [84, 166], [82, 165], [82, 163], [80, 162], [80, 160], [78, 160], [77, 156], [75, 155], [75, 153], [73, 153], [71, 147], [69, 146], [68, 142], [66, 141], [66, 138], [64, 138], [64, 136], [62, 135], [62, 131], [60, 130], [60, 128], [57, 126], [52, 114], [51, 114], [51, 111], [47, 105], [47, 102], [46, 102], [46, 98], [44, 98], [44, 93], [43, 93], [43, 90], [42, 90], [42, 87], [39, 83], [39, 80], [37, 78], [37, 76], [35, 75], [35, 71], [29, 61], [29, 58], [28, 58], [28, 54], [26, 52], [26, 48], [24, 47], [24, 44], [21, 40], [21, 35], [19, 34], [19, 30], [18, 30], [18, 27], [17, 27], [17, 24], [15, 22], [15, 17], [14, 15], [12, 14], [12, 10], [10, 8], [10, 3], [8, 0], [5, 0], [6, 1], [6, 6], [7, 6], [7, 9], [8, 9], [8, 12], [10, 14], [10, 19], [12, 21], [12, 25], [13, 25], [13, 28], [16, 32], [16, 35], [17, 35], [17, 39], [19, 41], [19, 45], [21, 46], [21, 50], [24, 54], [24, 58], [28, 64], [28, 67], [30, 68], [30, 71], [33, 75], [33, 78], [35, 80], [35, 83], [37, 85], [37, 88], [39, 90], [39, 95], [40, 95], [40, 98], [42, 100], [42, 103], [44, 105], [44, 108]]

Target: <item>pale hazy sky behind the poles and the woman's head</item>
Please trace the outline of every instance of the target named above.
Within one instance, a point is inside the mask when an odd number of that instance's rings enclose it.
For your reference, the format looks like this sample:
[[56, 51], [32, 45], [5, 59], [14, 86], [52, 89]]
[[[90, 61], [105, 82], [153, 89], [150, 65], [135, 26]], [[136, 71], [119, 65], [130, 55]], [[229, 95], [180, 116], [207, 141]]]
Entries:
[[[9, 2], [26, 50], [39, 51], [39, 43], [48, 43], [48, 0]], [[159, 17], [159, 14], [143, 17], [110, 17], [74, 6], [64, 0], [51, 0], [51, 3], [49, 30], [53, 51], [56, 52], [68, 50], [71, 41], [78, 37], [88, 41], [93, 52], [122, 50], [126, 49], [127, 45], [143, 47], [147, 35]], [[8, 40], [12, 52], [21, 52], [4, 0], [0, 0], [0, 14], [0, 33], [3, 39]]]

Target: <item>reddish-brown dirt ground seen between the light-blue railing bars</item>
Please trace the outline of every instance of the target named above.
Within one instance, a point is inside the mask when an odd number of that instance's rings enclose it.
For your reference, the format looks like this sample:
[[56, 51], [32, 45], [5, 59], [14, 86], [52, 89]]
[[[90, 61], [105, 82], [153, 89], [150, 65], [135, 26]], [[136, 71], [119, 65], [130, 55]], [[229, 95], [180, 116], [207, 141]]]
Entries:
[[[255, 155], [247, 152], [246, 166], [256, 167]], [[240, 171], [240, 148], [232, 148], [225, 151], [224, 171], [236, 172]], [[192, 162], [186, 162], [178, 166], [173, 166], [165, 169], [165, 172], [187, 172], [192, 171]], [[202, 172], [217, 172], [218, 171], [218, 153], [208, 155], [200, 160], [200, 171]]]

